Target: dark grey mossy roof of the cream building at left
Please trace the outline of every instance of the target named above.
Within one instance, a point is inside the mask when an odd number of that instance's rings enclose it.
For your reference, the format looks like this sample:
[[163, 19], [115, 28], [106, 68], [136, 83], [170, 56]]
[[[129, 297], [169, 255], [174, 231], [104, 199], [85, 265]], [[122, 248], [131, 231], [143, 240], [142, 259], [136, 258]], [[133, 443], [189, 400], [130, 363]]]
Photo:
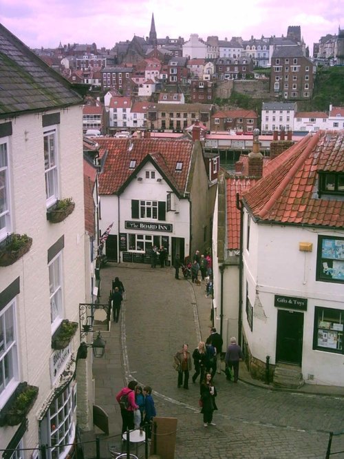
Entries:
[[0, 117], [83, 101], [72, 85], [0, 24]]

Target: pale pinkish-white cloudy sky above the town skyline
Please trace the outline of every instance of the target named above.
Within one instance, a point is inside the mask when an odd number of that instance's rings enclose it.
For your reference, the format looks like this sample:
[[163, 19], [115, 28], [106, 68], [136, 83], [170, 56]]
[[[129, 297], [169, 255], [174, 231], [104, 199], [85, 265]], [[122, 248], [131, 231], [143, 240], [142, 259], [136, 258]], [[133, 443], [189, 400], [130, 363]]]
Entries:
[[301, 26], [313, 43], [344, 28], [343, 0], [0, 0], [0, 22], [30, 48], [96, 43], [112, 48], [133, 35], [147, 37], [154, 13], [158, 38], [197, 33], [244, 40], [286, 35]]

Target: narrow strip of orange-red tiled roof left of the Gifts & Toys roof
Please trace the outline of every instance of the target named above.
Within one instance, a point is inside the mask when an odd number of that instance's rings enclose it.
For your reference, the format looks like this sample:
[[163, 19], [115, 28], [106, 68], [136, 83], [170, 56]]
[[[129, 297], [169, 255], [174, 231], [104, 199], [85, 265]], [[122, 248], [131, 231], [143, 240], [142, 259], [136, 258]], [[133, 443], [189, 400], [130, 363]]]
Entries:
[[240, 211], [237, 210], [237, 193], [242, 194], [257, 183], [257, 179], [245, 176], [233, 176], [226, 181], [226, 206], [227, 206], [227, 248], [237, 250], [240, 248]]

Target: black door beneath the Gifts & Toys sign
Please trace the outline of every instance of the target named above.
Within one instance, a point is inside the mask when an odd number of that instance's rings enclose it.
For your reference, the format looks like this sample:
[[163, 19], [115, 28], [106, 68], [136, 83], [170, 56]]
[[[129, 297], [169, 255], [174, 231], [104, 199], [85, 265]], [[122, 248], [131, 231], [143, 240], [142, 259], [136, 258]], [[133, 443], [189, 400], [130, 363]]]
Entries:
[[279, 309], [277, 313], [276, 362], [301, 365], [303, 313]]

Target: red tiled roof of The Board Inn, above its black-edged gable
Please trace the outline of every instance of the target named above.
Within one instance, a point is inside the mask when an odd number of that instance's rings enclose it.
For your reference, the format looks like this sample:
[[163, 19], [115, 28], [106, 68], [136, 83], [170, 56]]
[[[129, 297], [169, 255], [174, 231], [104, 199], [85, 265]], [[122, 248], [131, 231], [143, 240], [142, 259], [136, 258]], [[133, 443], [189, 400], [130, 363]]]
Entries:
[[[193, 157], [192, 141], [111, 137], [98, 138], [97, 143], [100, 145], [100, 156], [106, 154], [103, 171], [99, 175], [99, 194], [120, 194], [144, 161], [155, 164], [178, 194], [187, 191]], [[136, 160], [135, 170], [129, 169], [132, 160]], [[178, 162], [183, 163], [180, 172], [175, 170]]]

